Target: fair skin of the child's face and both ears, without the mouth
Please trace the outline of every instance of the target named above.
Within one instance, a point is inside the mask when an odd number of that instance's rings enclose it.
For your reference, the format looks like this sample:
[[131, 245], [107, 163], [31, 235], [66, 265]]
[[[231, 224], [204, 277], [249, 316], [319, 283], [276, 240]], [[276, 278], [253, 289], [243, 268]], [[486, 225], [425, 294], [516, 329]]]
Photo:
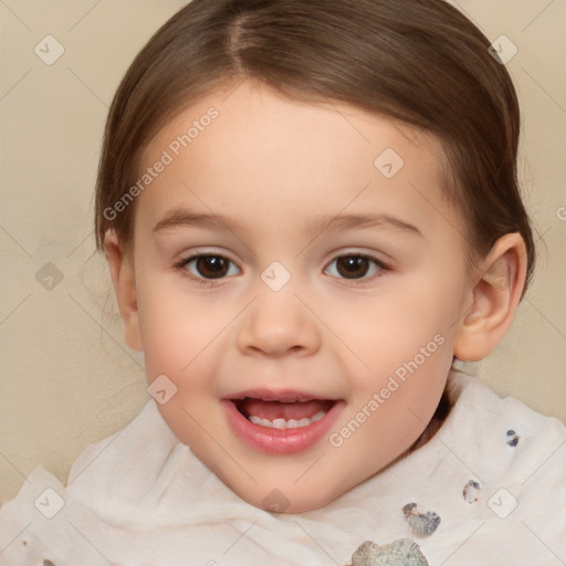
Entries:
[[[432, 136], [252, 81], [231, 88], [181, 112], [146, 148], [143, 170], [218, 109], [137, 198], [130, 245], [108, 231], [107, 256], [127, 344], [145, 353], [149, 382], [165, 374], [177, 386], [158, 405], [174, 433], [245, 501], [261, 507], [276, 489], [295, 513], [324, 506], [415, 443], [452, 357], [485, 357], [511, 325], [524, 244], [505, 235], [470, 274], [465, 224], [442, 198]], [[390, 179], [374, 165], [386, 148], [405, 160]], [[240, 226], [154, 230], [175, 208]], [[346, 213], [390, 214], [418, 232], [390, 223], [308, 231], [319, 216]], [[202, 284], [195, 263], [175, 266], [196, 253], [231, 260], [227, 275]], [[337, 258], [360, 253], [387, 268], [368, 262], [348, 279]], [[261, 279], [274, 261], [291, 275], [277, 292]], [[221, 410], [222, 398], [243, 389], [307, 390], [344, 400], [331, 430], [339, 434], [434, 336], [442, 345], [339, 447], [325, 434], [300, 453], [266, 454], [235, 436]]]

